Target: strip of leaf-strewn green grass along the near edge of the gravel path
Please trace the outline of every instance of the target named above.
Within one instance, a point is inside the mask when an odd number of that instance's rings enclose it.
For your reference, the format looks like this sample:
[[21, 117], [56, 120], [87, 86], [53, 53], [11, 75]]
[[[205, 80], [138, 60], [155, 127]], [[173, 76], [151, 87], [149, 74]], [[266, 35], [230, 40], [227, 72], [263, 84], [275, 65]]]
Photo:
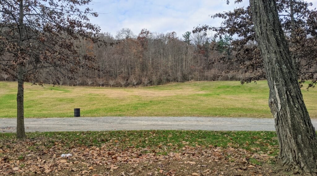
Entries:
[[[269, 153], [276, 156], [278, 142], [275, 132], [255, 131], [99, 131], [99, 132], [36, 132], [27, 133], [28, 139], [41, 141], [35, 143], [28, 150], [36, 151], [36, 146], [48, 148], [61, 144], [63, 147], [101, 147], [103, 144], [125, 149], [129, 146], [136, 148], [164, 149], [163, 151], [178, 151], [184, 146], [190, 147], [233, 147], [246, 149], [252, 152]], [[0, 141], [4, 143], [18, 143], [14, 133], [0, 133]], [[3, 146], [0, 145], [0, 148]], [[23, 158], [23, 156], [21, 156]]]

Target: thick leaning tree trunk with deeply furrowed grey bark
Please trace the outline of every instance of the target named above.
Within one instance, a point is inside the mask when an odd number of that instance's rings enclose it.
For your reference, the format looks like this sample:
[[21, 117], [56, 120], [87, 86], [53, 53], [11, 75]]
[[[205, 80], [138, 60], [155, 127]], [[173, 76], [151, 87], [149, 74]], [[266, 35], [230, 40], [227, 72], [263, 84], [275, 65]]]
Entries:
[[280, 145], [278, 163], [287, 169], [316, 173], [316, 133], [298, 85], [276, 2], [250, 0], [250, 6], [270, 88], [269, 107]]

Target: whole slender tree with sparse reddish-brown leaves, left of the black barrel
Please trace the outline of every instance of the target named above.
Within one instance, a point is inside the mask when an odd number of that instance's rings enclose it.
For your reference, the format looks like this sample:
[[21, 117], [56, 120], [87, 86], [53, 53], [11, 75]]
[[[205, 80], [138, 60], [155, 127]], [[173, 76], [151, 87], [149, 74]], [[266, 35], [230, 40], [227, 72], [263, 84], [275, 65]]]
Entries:
[[0, 1], [0, 64], [4, 69], [0, 68], [17, 76], [17, 138], [25, 138], [25, 81], [42, 84], [43, 69], [73, 75], [77, 68], [95, 68], [94, 57], [80, 53], [76, 43], [104, 43], [98, 35], [100, 28], [89, 22], [89, 17], [98, 14], [87, 7], [81, 10], [80, 6], [89, 3], [91, 0]]

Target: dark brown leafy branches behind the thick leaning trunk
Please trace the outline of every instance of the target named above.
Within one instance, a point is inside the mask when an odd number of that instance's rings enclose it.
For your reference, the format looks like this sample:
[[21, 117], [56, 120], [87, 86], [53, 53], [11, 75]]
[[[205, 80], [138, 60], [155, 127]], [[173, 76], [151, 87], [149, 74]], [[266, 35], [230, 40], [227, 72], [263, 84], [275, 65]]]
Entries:
[[[235, 3], [242, 1], [236, 0]], [[289, 49], [292, 52], [292, 58], [298, 68], [297, 74], [301, 80], [300, 83], [312, 79], [313, 81], [309, 85], [312, 87], [317, 81], [317, 10], [311, 10], [313, 4], [304, 0], [278, 0], [276, 5], [282, 29], [290, 43]], [[227, 64], [228, 71], [243, 70], [246, 73], [253, 73], [252, 76], [244, 77], [242, 82], [265, 79], [263, 60], [255, 43], [250, 6], [217, 13], [211, 17], [223, 19], [221, 26], [202, 25], [196, 27], [193, 33], [211, 30], [215, 32], [214, 37], [229, 35], [235, 38], [231, 42], [230, 52], [215, 58], [213, 62]], [[232, 59], [228, 60], [227, 55], [231, 55], [231, 53]]]

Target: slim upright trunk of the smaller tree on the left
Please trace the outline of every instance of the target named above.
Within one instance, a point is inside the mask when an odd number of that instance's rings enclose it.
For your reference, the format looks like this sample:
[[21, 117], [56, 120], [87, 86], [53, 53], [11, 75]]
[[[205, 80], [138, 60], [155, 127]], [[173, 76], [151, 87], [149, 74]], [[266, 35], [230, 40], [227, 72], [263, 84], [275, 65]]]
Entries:
[[[20, 46], [23, 43], [24, 39], [24, 24], [23, 24], [23, 0], [20, 1], [20, 16], [19, 16], [19, 32], [20, 32]], [[20, 58], [22, 59], [22, 58]], [[19, 139], [25, 138], [25, 129], [24, 129], [24, 67], [23, 62], [18, 63], [18, 93], [16, 96], [16, 103], [17, 103], [17, 113], [16, 113], [16, 137]]]

